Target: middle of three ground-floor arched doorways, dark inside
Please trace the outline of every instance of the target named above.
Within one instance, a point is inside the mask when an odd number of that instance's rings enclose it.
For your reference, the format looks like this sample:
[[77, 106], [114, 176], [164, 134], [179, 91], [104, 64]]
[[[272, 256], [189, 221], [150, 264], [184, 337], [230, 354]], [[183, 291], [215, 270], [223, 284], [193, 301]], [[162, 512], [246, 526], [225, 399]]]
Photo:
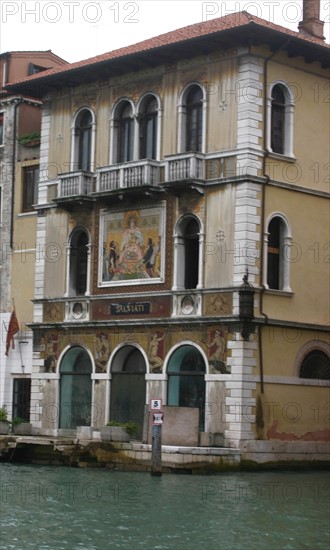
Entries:
[[135, 346], [124, 346], [115, 355], [112, 367], [110, 420], [136, 422], [142, 436], [146, 402], [146, 363]]

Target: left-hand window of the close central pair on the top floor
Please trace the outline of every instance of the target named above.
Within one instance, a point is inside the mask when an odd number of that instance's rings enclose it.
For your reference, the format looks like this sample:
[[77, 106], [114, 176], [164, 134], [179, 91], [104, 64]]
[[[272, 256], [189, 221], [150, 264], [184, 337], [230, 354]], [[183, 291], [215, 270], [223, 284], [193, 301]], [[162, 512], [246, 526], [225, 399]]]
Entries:
[[123, 101], [118, 107], [117, 118], [117, 162], [133, 160], [134, 119], [132, 106]]

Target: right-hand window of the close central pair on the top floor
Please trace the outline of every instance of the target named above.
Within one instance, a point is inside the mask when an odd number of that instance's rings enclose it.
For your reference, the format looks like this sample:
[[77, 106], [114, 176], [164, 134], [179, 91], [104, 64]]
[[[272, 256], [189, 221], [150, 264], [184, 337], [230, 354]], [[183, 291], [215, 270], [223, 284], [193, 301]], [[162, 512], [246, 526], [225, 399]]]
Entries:
[[140, 159], [157, 157], [157, 99], [147, 96], [142, 102], [139, 113]]

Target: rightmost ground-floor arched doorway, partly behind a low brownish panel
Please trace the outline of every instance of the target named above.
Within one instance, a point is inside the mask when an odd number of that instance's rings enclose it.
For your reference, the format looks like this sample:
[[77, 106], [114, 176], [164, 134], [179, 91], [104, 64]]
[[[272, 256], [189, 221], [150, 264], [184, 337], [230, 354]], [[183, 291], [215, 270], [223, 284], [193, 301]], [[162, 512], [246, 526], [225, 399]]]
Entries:
[[205, 362], [194, 346], [177, 348], [168, 364], [167, 404], [176, 407], [198, 407], [199, 429], [204, 431]]

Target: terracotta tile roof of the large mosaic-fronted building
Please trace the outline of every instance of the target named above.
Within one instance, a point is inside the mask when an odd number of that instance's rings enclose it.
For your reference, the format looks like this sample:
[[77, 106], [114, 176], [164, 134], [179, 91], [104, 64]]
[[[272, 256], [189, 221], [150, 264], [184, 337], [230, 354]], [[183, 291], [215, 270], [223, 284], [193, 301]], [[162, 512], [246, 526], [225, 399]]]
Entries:
[[295, 39], [298, 39], [299, 41], [301, 41], [301, 43], [305, 43], [305, 45], [306, 43], [307, 44], [310, 43], [318, 46], [323, 46], [324, 48], [329, 47], [323, 40], [319, 38], [316, 38], [311, 35], [303, 34], [302, 32], [292, 31], [290, 29], [282, 27], [281, 25], [271, 23], [270, 21], [266, 21], [265, 19], [261, 19], [260, 17], [251, 15], [246, 11], [242, 11], [242, 12], [232, 13], [217, 19], [211, 19], [209, 21], [195, 23], [193, 25], [189, 25], [187, 27], [183, 27], [175, 31], [170, 31], [165, 34], [161, 34], [154, 38], [143, 40], [142, 42], [138, 42], [130, 46], [119, 48], [118, 50], [113, 50], [101, 55], [97, 55], [95, 57], [84, 59], [82, 61], [70, 63], [60, 68], [49, 69], [47, 71], [43, 71], [42, 73], [38, 73], [36, 75], [32, 75], [28, 78], [25, 78], [24, 81], [23, 80], [17, 81], [13, 84], [18, 84], [19, 82], [30, 82], [34, 80], [41, 80], [41, 79], [47, 78], [48, 76], [56, 75], [56, 74], [64, 75], [66, 72], [72, 72], [76, 69], [79, 70], [88, 66], [91, 67], [99, 63], [104, 63], [106, 61], [118, 59], [120, 57], [125, 57], [129, 55], [134, 55], [137, 53], [151, 51], [157, 48], [162, 48], [173, 44], [184, 43], [186, 41], [189, 41], [195, 38], [212, 35], [223, 31], [238, 29], [239, 27], [243, 27], [251, 23], [259, 26], [260, 28], [269, 29], [271, 31], [276, 31], [277, 33], [286, 35], [288, 38], [293, 37]]

